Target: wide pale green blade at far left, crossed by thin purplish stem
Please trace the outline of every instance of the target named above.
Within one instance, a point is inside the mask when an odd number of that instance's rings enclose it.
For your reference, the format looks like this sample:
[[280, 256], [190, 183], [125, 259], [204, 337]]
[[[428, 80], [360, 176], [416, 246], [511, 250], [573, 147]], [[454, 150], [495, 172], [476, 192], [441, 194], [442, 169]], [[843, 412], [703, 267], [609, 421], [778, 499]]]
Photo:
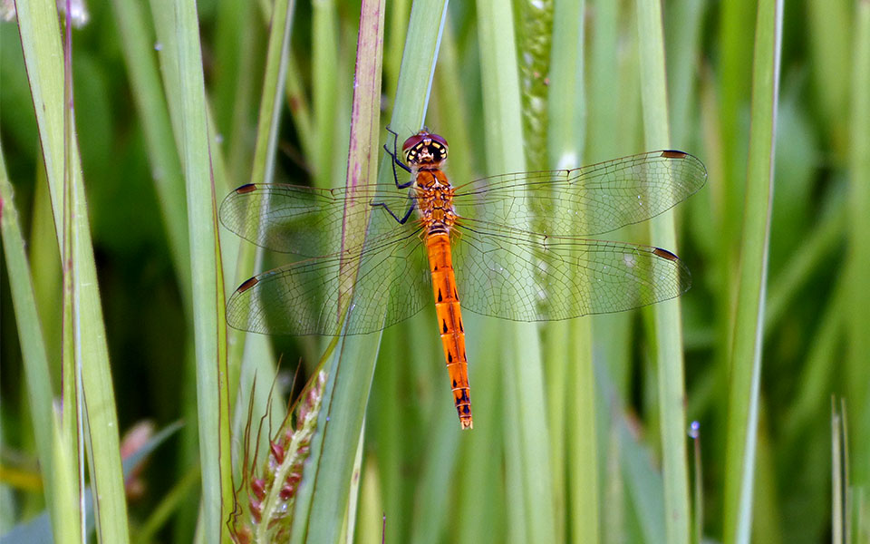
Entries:
[[[63, 52], [58, 33], [57, 13], [53, 2], [37, 0], [21, 3], [18, 11], [19, 32], [24, 48], [24, 62], [30, 80], [36, 121], [40, 130], [45, 170], [48, 172], [57, 233], [63, 233], [64, 169], [73, 173], [76, 193], [73, 210], [74, 293], [79, 335], [75, 339], [76, 358], [82, 362], [82, 390], [85, 393], [90, 434], [83, 439], [91, 452], [92, 487], [99, 497], [95, 502], [99, 539], [123, 543], [129, 540], [127, 505], [124, 497], [119, 454], [118, 420], [111, 384], [109, 353], [102, 321], [102, 306], [87, 207], [84, 198], [82, 166], [77, 144], [70, 142], [70, 164], [64, 135]], [[59, 246], [61, 244], [59, 243]], [[67, 397], [67, 405], [72, 398]], [[72, 452], [71, 452], [72, 453]], [[83, 462], [83, 460], [82, 460]]]

